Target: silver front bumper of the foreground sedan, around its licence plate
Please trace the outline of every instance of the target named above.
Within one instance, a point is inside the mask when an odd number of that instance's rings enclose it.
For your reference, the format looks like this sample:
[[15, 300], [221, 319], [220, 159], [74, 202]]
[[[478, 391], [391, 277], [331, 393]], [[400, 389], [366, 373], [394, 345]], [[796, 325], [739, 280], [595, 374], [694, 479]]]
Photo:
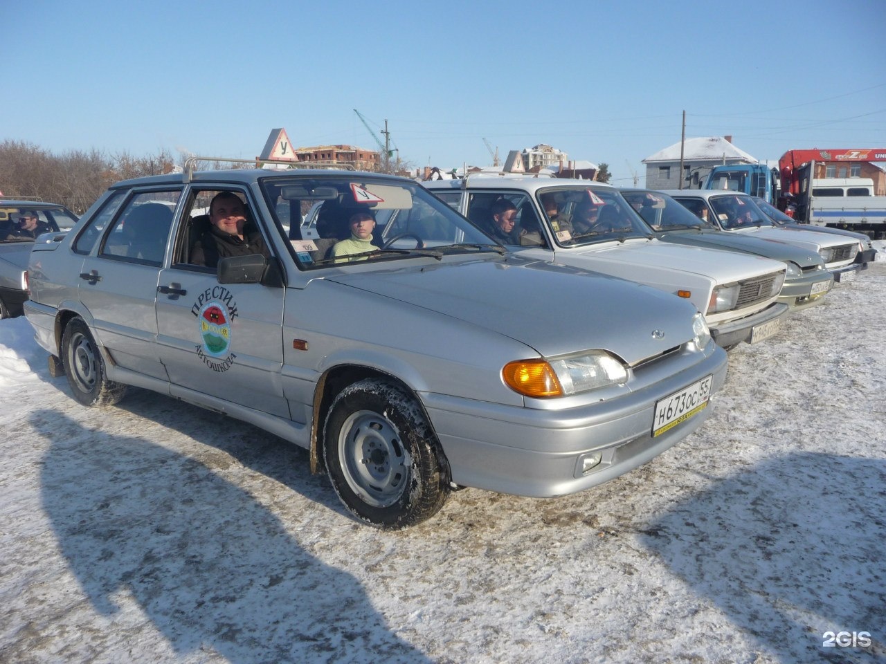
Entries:
[[[607, 482], [653, 459], [698, 428], [712, 404], [652, 437], [657, 400], [712, 374], [711, 394], [726, 380], [727, 355], [715, 348], [692, 367], [610, 401], [565, 410], [497, 405], [424, 392], [420, 395], [462, 486], [548, 498]], [[602, 462], [582, 474], [582, 459]]]

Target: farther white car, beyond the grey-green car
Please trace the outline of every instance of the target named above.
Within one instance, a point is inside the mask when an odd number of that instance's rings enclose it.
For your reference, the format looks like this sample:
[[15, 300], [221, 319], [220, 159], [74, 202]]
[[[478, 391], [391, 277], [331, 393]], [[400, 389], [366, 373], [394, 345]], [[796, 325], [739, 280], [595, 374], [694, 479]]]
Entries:
[[812, 230], [780, 228], [747, 194], [719, 189], [672, 189], [664, 193], [720, 230], [764, 240], [779, 240], [815, 251], [824, 260], [825, 267], [834, 274], [835, 282], [849, 282], [859, 272], [859, 265], [855, 263], [859, 253], [858, 242]]

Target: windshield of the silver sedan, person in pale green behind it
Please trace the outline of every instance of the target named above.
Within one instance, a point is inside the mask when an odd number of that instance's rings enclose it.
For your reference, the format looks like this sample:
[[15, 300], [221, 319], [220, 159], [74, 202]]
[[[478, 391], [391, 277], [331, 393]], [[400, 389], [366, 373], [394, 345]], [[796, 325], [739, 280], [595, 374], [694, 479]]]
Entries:
[[267, 178], [261, 186], [277, 228], [303, 267], [503, 251], [411, 181], [368, 174], [300, 174]]

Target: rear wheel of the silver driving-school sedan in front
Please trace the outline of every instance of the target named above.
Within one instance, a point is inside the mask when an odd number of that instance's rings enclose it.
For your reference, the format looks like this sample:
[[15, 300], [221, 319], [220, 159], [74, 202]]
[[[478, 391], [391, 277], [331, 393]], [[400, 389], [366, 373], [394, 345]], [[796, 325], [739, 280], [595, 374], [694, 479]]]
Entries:
[[82, 318], [68, 321], [62, 336], [61, 357], [67, 382], [74, 398], [82, 405], [113, 405], [126, 394], [126, 385], [108, 380], [105, 360]]

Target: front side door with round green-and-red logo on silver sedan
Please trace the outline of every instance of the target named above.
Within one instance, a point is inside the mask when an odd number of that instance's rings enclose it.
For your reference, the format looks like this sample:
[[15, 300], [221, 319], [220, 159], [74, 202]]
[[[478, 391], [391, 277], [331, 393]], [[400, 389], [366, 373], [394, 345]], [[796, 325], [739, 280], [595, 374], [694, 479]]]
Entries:
[[[159, 356], [176, 396], [194, 398], [196, 392], [210, 398], [199, 400], [222, 410], [220, 399], [288, 418], [281, 382], [285, 289], [221, 284], [214, 268], [188, 262], [195, 238], [187, 211], [208, 205], [221, 190], [233, 190], [248, 201], [241, 189], [191, 189], [171, 265], [159, 274]], [[247, 208], [256, 209], [248, 202]], [[260, 220], [253, 217], [253, 222], [260, 228]], [[268, 243], [268, 234], [262, 232]]]

